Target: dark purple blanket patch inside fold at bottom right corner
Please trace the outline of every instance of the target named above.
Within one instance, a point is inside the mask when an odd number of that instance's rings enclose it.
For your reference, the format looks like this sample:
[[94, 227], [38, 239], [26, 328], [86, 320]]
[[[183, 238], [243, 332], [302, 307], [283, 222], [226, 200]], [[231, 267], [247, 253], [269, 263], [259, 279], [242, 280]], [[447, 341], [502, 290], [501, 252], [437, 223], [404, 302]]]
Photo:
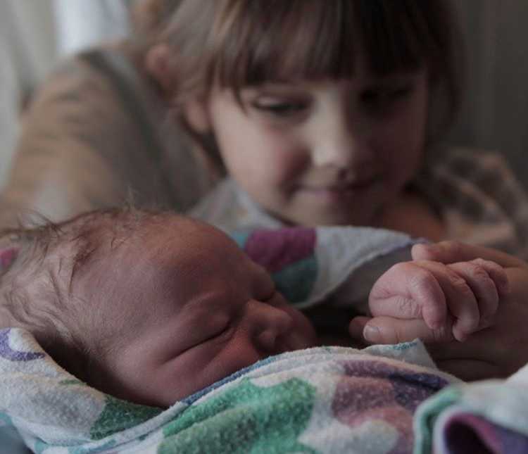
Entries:
[[446, 453], [528, 453], [528, 437], [470, 413], [449, 417], [444, 426]]

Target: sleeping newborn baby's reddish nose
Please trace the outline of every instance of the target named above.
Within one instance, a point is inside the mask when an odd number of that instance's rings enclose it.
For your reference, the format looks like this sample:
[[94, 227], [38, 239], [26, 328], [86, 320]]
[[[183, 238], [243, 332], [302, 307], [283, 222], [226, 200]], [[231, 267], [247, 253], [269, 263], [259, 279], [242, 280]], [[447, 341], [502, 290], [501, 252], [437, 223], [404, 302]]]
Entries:
[[257, 348], [267, 353], [278, 353], [282, 337], [293, 326], [293, 318], [284, 310], [267, 303], [252, 300], [248, 305], [249, 329]]

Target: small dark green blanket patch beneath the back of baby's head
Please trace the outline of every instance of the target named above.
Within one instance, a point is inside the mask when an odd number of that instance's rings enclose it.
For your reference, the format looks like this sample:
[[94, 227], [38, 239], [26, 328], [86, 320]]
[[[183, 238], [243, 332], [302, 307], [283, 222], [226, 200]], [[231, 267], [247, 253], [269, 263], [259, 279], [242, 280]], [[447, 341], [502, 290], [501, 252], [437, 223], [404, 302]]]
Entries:
[[161, 408], [146, 407], [105, 396], [105, 406], [90, 429], [93, 440], [101, 440], [130, 427], [137, 426], [162, 412]]

